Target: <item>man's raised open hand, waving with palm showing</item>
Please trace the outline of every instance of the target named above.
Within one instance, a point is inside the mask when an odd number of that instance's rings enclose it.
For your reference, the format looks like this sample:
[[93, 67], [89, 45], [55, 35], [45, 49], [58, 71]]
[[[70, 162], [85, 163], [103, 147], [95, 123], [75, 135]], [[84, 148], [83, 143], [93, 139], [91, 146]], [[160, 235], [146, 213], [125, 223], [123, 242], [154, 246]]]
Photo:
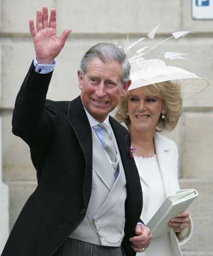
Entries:
[[56, 35], [56, 10], [51, 9], [51, 16], [48, 23], [48, 9], [44, 5], [41, 10], [37, 10], [36, 29], [33, 20], [29, 20], [30, 34], [32, 35], [35, 54], [39, 64], [52, 64], [59, 54], [71, 29], [66, 29], [58, 38]]

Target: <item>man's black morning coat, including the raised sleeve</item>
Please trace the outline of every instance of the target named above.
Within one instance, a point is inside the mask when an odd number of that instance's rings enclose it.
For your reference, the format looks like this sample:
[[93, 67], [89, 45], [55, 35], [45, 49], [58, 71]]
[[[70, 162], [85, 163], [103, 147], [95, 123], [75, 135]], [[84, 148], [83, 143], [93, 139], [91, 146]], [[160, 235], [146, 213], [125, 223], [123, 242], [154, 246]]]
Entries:
[[[1, 256], [51, 256], [82, 222], [91, 196], [93, 141], [80, 97], [49, 101], [52, 73], [35, 73], [33, 64], [19, 90], [13, 111], [13, 133], [30, 147], [38, 186], [10, 233]], [[136, 255], [128, 239], [142, 209], [138, 170], [130, 157], [127, 130], [110, 117], [127, 180], [125, 237], [122, 248]]]

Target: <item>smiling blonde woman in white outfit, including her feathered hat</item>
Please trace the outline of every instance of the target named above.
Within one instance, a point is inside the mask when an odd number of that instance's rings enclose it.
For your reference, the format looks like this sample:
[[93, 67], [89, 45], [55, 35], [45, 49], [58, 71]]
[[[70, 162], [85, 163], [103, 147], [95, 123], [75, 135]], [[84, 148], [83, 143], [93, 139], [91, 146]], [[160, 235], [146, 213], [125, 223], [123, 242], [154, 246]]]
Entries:
[[[155, 37], [156, 26], [147, 38]], [[176, 144], [159, 135], [162, 130], [173, 130], [181, 114], [182, 97], [189, 98], [200, 93], [208, 82], [197, 74], [185, 69], [167, 66], [164, 60], [147, 59], [151, 51], [174, 38], [175, 40], [191, 34], [190, 31], [173, 32], [169, 38], [145, 46], [129, 59], [131, 63], [131, 86], [128, 94], [117, 106], [116, 119], [130, 132], [131, 146], [135, 148], [134, 160], [138, 167], [143, 191], [144, 204], [141, 219], [147, 223], [166, 197], [180, 190], [178, 183], [178, 150]], [[144, 42], [145, 38], [130, 44], [125, 52]], [[166, 52], [164, 59], [185, 59], [177, 52]], [[199, 82], [195, 84], [195, 80]], [[188, 88], [186, 88], [186, 85]], [[193, 85], [192, 90], [189, 90]], [[148, 248], [143, 248], [139, 256], [181, 256], [180, 244], [186, 243], [192, 234], [193, 224], [189, 213], [173, 216], [168, 225], [170, 232], [153, 238]]]

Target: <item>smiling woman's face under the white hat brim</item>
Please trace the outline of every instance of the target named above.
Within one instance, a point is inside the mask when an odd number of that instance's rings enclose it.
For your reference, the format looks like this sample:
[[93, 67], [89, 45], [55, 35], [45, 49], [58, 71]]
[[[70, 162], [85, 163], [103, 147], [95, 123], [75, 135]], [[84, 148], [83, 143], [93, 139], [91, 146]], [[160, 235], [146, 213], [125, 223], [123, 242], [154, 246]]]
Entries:
[[131, 126], [137, 130], [156, 129], [162, 111], [162, 99], [146, 93], [146, 87], [128, 93], [128, 115]]

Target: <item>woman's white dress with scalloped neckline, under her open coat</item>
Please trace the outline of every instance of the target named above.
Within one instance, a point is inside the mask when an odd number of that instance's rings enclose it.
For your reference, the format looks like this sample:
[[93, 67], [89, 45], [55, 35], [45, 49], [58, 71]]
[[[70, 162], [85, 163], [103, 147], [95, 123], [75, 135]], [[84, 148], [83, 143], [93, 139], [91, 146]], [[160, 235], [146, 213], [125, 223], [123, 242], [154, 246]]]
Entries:
[[[161, 206], [162, 202], [164, 202], [166, 194], [156, 155], [149, 158], [135, 156], [134, 160], [138, 168], [143, 191], [141, 219], [146, 224]], [[149, 188], [148, 195], [145, 194], [145, 191], [147, 190], [143, 190], [143, 187], [145, 186]], [[150, 198], [149, 201], [147, 201], [147, 197]], [[148, 204], [148, 202], [150, 203]], [[146, 213], [148, 213], [148, 216]], [[169, 233], [158, 236], [157, 238], [152, 239], [150, 246], [145, 252], [137, 253], [136, 256], [155, 256], [156, 252], [158, 252], [156, 256], [172, 256], [171, 244]]]

